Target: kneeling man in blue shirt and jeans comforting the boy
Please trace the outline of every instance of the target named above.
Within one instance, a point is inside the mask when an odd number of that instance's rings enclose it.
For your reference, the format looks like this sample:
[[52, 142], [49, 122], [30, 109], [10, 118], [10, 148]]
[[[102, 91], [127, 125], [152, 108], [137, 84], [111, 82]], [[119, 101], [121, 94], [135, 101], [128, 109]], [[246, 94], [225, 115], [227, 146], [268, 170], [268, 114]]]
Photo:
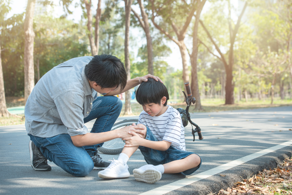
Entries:
[[[34, 170], [48, 171], [53, 161], [67, 173], [86, 176], [104, 169], [97, 148], [115, 138], [131, 137], [129, 131], [145, 133], [140, 126], [110, 131], [122, 103], [112, 95], [123, 93], [150, 74], [126, 80], [123, 63], [112, 55], [73, 58], [47, 72], [29, 95], [25, 105], [25, 127], [30, 137], [29, 152]], [[97, 97], [97, 92], [104, 97]], [[84, 123], [96, 119], [91, 133]]]

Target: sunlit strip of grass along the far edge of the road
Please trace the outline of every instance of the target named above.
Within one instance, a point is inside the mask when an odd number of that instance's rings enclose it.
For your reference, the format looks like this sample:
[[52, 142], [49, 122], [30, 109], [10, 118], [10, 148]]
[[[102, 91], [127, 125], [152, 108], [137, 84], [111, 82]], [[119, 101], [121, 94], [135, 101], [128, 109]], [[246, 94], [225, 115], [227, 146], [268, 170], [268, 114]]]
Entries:
[[[169, 100], [169, 102], [173, 102]], [[239, 101], [233, 105], [224, 105], [225, 102], [222, 99], [202, 99], [201, 105], [203, 106], [203, 110], [195, 110], [195, 105], [191, 105], [190, 112], [220, 112], [220, 111], [229, 111], [229, 110], [241, 110], [241, 109], [256, 109], [256, 108], [267, 108], [267, 107], [279, 107], [279, 106], [292, 106], [292, 99], [281, 100], [279, 97], [274, 98], [274, 104], [271, 105], [270, 99], [266, 99], [265, 101], [260, 100], [249, 100], [248, 102]], [[16, 107], [16, 106], [24, 106], [24, 97], [6, 97], [6, 105], [7, 107]], [[185, 109], [187, 104], [185, 102], [181, 103], [169, 103], [174, 108], [183, 108]], [[137, 116], [143, 110], [142, 106], [138, 103], [132, 103], [132, 115], [124, 115], [124, 105], [121, 111], [120, 116]], [[23, 114], [20, 116], [24, 116]], [[17, 125], [24, 124], [24, 119], [20, 119], [17, 117], [1, 117], [0, 118], [0, 126], [7, 125]]]

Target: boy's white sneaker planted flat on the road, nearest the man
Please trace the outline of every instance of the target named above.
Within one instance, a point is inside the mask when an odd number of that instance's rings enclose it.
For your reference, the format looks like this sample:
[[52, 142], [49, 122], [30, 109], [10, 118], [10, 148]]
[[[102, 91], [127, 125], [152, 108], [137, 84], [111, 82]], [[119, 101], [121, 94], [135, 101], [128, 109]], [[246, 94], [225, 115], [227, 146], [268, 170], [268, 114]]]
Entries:
[[98, 177], [104, 179], [127, 178], [130, 177], [127, 163], [122, 165], [120, 161], [113, 160], [105, 170], [98, 172]]

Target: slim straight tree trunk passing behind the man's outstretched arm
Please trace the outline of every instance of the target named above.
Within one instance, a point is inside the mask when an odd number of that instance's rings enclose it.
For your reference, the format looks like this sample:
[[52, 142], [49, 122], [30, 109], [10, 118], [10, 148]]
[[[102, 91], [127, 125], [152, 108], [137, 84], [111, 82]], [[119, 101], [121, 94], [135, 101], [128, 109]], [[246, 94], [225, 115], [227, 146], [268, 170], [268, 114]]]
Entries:
[[[130, 29], [130, 18], [131, 18], [131, 5], [133, 0], [124, 0], [125, 1], [125, 69], [127, 72], [127, 80], [131, 79], [130, 69], [130, 55], [129, 55], [129, 29]], [[125, 115], [132, 114], [131, 108], [131, 93], [130, 90], [125, 92]]]

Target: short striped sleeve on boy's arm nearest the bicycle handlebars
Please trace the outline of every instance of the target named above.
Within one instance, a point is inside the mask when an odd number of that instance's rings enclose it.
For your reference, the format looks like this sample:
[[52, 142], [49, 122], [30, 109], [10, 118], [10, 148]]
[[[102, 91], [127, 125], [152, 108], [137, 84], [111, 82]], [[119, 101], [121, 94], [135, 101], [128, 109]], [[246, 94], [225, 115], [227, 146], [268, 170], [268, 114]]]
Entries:
[[172, 142], [172, 145], [179, 146], [181, 138], [181, 118], [180, 115], [172, 112], [170, 115], [170, 121], [165, 128], [165, 134], [162, 140]]

